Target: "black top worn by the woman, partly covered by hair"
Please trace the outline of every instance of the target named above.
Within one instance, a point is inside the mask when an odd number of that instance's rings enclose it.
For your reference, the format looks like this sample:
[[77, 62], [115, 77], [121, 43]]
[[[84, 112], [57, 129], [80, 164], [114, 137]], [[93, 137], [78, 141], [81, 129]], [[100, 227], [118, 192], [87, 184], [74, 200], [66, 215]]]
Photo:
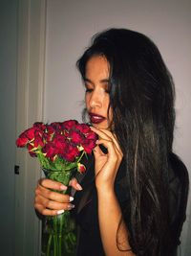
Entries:
[[[175, 233], [176, 244], [180, 244], [180, 232], [185, 220], [187, 202], [188, 175], [184, 165], [172, 154], [172, 170], [169, 173], [169, 198], [172, 230]], [[79, 175], [79, 183], [83, 190], [74, 195], [74, 215], [79, 225], [79, 236], [76, 256], [104, 256], [100, 239], [97, 216], [97, 195], [95, 185], [95, 161], [93, 156], [85, 160], [86, 173]], [[129, 190], [124, 185], [125, 178], [124, 162], [122, 161], [115, 181], [115, 191], [121, 210], [129, 200]]]

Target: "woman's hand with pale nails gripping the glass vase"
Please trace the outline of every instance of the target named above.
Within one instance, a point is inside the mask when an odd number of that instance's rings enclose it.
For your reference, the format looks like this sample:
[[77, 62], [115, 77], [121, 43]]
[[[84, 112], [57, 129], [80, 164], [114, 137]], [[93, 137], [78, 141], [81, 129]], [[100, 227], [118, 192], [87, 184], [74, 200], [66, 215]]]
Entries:
[[[82, 190], [76, 178], [71, 180], [70, 186], [75, 190]], [[74, 200], [73, 197], [59, 194], [52, 190], [65, 191], [67, 190], [67, 186], [48, 178], [39, 180], [35, 189], [34, 208], [40, 214], [54, 216], [63, 213], [65, 210], [74, 208], [74, 204], [71, 203]]]

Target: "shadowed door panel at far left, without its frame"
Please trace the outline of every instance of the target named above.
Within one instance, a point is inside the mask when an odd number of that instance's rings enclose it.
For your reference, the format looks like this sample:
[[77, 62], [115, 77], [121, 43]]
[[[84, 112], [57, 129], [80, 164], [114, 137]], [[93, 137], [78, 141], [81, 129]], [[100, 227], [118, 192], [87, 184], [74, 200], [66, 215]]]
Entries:
[[15, 103], [18, 1], [0, 8], [0, 248], [12, 256], [14, 238]]

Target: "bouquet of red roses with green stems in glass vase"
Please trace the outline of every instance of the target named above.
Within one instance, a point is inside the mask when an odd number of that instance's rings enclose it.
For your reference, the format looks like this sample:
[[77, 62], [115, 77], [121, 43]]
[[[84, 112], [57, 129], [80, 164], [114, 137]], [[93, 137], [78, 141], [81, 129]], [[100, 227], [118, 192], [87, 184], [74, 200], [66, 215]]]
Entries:
[[[86, 168], [80, 161], [83, 155], [95, 148], [96, 133], [75, 120], [50, 125], [39, 122], [19, 135], [16, 146], [26, 147], [32, 157], [37, 157], [47, 177], [68, 186], [76, 172], [85, 172]], [[72, 255], [76, 238], [70, 212], [46, 220], [49, 232], [46, 255]]]

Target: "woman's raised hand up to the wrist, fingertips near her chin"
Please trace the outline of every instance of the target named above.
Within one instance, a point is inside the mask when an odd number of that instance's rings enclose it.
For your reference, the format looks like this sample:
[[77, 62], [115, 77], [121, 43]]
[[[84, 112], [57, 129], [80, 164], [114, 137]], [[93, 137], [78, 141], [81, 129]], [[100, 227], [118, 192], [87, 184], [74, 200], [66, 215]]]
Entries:
[[[100, 190], [113, 190], [118, 167], [122, 160], [122, 151], [115, 134], [104, 128], [92, 128], [99, 139], [97, 140], [95, 154], [96, 188]], [[98, 145], [102, 144], [108, 151], [103, 153]]]

